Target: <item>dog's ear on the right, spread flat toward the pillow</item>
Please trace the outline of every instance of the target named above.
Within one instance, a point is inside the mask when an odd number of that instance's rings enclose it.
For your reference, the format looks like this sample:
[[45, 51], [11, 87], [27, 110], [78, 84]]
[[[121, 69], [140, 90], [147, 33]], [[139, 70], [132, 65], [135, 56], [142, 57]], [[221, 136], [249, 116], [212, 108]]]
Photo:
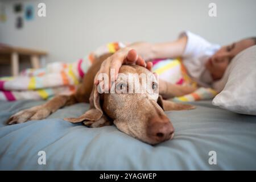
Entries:
[[195, 106], [188, 105], [188, 104], [180, 104], [168, 100], [163, 100], [162, 96], [159, 95], [158, 97], [158, 105], [162, 107], [164, 111], [168, 110], [190, 110], [195, 109]]

